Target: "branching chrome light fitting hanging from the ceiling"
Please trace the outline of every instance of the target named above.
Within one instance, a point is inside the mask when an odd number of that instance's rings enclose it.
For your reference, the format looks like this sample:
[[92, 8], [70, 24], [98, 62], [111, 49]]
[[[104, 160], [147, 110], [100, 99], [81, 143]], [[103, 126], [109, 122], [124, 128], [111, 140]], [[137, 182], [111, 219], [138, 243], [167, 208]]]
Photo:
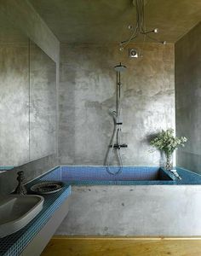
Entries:
[[130, 37], [120, 43], [120, 48], [119, 50], [123, 50], [129, 43], [135, 41], [135, 38], [138, 36], [144, 36], [144, 40], [146, 38], [150, 38], [153, 41], [156, 41], [160, 44], [166, 44], [166, 41], [160, 41], [157, 38], [152, 38], [150, 34], [152, 33], [158, 33], [158, 28], [153, 28], [150, 31], [146, 31], [146, 26], [145, 26], [145, 4], [146, 0], [133, 0], [133, 4], [135, 6], [136, 10], [136, 23], [135, 27], [129, 25], [128, 29], [132, 31]]

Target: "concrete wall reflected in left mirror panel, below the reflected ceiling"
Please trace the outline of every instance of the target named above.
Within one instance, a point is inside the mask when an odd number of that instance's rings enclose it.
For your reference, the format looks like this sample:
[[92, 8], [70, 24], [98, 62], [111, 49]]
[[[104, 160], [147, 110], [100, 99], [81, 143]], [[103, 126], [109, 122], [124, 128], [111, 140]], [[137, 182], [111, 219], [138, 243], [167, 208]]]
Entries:
[[29, 161], [29, 55], [26, 44], [0, 44], [0, 166]]

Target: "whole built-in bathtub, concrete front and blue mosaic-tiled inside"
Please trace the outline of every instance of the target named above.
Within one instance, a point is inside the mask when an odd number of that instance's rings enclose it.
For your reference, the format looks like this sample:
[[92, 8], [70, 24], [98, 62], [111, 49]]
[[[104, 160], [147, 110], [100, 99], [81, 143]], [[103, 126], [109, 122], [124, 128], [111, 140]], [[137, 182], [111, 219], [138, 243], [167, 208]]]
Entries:
[[[117, 167], [112, 167], [117, 171]], [[201, 236], [201, 176], [176, 168], [59, 166], [42, 180], [72, 185], [68, 215], [56, 231], [67, 236]]]

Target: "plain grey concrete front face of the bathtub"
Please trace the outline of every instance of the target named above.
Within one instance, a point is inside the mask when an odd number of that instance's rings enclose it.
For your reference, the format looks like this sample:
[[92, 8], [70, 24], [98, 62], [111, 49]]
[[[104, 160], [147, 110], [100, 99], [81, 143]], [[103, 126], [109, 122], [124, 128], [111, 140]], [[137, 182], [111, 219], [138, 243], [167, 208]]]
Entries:
[[200, 236], [201, 187], [72, 187], [72, 204], [55, 235]]

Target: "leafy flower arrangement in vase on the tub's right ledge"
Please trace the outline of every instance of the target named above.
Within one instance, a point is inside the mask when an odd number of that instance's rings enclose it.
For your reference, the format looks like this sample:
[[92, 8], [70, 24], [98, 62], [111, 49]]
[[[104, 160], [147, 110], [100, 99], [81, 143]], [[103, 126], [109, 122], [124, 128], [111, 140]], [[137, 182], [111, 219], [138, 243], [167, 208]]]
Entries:
[[161, 132], [159, 132], [158, 136], [154, 137], [150, 144], [153, 147], [164, 151], [166, 157], [165, 168], [167, 170], [171, 170], [173, 168], [173, 164], [171, 161], [172, 154], [178, 148], [178, 146], [184, 147], [184, 143], [186, 142], [186, 137], [175, 137], [174, 130], [168, 129], [166, 131], [162, 130]]

